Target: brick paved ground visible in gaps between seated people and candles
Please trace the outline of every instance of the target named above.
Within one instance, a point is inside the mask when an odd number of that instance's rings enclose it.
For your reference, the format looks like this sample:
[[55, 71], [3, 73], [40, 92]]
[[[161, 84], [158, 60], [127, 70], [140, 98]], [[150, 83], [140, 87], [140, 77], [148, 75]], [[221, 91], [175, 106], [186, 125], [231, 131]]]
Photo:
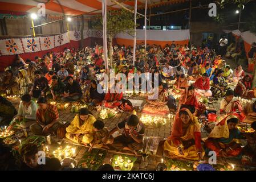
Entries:
[[[17, 98], [15, 100], [11, 100], [15, 107], [18, 109], [18, 104], [20, 100]], [[219, 110], [220, 107], [220, 101], [213, 102], [212, 104], [208, 104], [208, 107], [215, 108]], [[99, 111], [95, 109], [95, 107], [89, 107], [89, 110], [91, 113], [96, 117], [99, 118]], [[116, 117], [110, 118], [110, 119], [104, 119], [105, 126], [108, 127], [108, 129], [112, 129], [117, 125], [118, 122], [123, 121], [123, 119], [127, 118], [131, 113], [118, 113]], [[72, 119], [75, 117], [76, 113], [71, 113], [71, 106], [68, 107], [66, 110], [59, 110], [59, 118], [60, 121], [63, 122], [71, 122]], [[137, 113], [137, 115], [140, 117], [141, 113]], [[145, 136], [151, 137], [164, 137], [167, 138], [170, 135], [170, 130], [172, 126], [172, 121], [167, 122], [166, 125], [162, 126], [160, 129], [156, 128], [153, 125], [146, 125], [145, 126]], [[206, 131], [202, 131], [202, 138], [207, 137], [208, 133]], [[79, 160], [82, 158], [84, 152], [86, 152], [88, 148], [79, 146], [78, 147], [78, 152], [76, 156], [76, 160]], [[113, 152], [107, 152], [107, 155], [104, 158], [103, 163], [109, 163], [111, 160], [112, 156], [114, 155]], [[154, 156], [149, 156], [147, 160], [143, 160], [141, 156], [137, 156], [136, 163], [133, 167], [133, 170], [140, 170], [140, 171], [145, 171], [145, 170], [155, 170], [156, 165], [161, 162], [161, 159], [164, 157], [154, 157]], [[226, 159], [218, 159], [218, 163], [225, 163]], [[231, 161], [233, 164], [237, 164], [239, 166], [239, 163], [237, 161]], [[237, 167], [238, 168], [238, 167]]]

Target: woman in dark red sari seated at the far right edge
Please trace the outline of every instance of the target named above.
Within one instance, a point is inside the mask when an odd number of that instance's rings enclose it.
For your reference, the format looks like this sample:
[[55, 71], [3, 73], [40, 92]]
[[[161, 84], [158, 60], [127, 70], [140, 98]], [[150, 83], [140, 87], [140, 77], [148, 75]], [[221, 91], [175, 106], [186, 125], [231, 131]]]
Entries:
[[243, 97], [246, 99], [255, 98], [255, 94], [251, 89], [251, 77], [246, 75], [241, 80], [239, 80], [237, 86], [234, 89], [235, 96]]

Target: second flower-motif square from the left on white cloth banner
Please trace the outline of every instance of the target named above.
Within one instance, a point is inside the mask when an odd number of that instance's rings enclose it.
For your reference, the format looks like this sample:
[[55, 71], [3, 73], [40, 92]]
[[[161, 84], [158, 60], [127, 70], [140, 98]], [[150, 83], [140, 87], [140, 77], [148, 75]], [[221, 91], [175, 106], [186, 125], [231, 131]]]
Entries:
[[21, 40], [25, 53], [41, 51], [39, 38], [23, 38]]

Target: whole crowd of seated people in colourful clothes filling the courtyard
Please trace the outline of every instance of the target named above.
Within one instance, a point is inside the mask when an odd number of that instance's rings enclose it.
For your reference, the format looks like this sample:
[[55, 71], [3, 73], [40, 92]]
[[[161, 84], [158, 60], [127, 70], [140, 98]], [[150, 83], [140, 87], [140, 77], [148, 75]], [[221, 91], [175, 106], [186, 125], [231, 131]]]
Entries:
[[[99, 73], [105, 73], [102, 50], [100, 46], [82, 50], [65, 48], [64, 52], [49, 52], [42, 58], [35, 57], [34, 60], [26, 61], [18, 56], [1, 77], [0, 89], [1, 92], [10, 90], [13, 94], [19, 92], [22, 95], [21, 103], [17, 112], [9, 101], [0, 96], [3, 107], [1, 122], [7, 125], [10, 123], [10, 128], [19, 125], [29, 128], [35, 135], [46, 135], [63, 126], [59, 111], [55, 105], [50, 104], [51, 100], [86, 102], [90, 106], [100, 105], [118, 110], [124, 108], [123, 85], [115, 82], [112, 85], [115, 87], [114, 93], [109, 90], [101, 92], [106, 86], [99, 78]], [[172, 158], [188, 160], [200, 160], [210, 150], [216, 151], [217, 156], [242, 156], [243, 148], [234, 140], [251, 139], [254, 135], [239, 133], [237, 124], [246, 122], [255, 127], [256, 102], [242, 106], [235, 98], [255, 98], [251, 78], [245, 75], [241, 65], [232, 71], [221, 56], [214, 55], [207, 47], [188, 48], [174, 43], [164, 48], [156, 45], [143, 48], [137, 45], [135, 65], [132, 65], [131, 56], [131, 47], [115, 47], [112, 56], [115, 73], [122, 73], [116, 81], [128, 84], [132, 80], [133, 89], [137, 88], [140, 92], [142, 82], [147, 81], [146, 91], [149, 94], [146, 94], [142, 113], [166, 116], [171, 107], [166, 91], [172, 90], [173, 94], [180, 96], [174, 108], [176, 116], [172, 132], [163, 146], [166, 154]], [[159, 81], [157, 85], [155, 80]], [[238, 82], [234, 91], [228, 84], [231, 80]], [[135, 84], [137, 81], [139, 85]], [[168, 88], [164, 81], [173, 81], [173, 87]], [[220, 113], [226, 114], [224, 119], [216, 123], [204, 143], [201, 141], [198, 118], [202, 114], [208, 117], [208, 111], [206, 105], [198, 100], [200, 95], [222, 98]], [[129, 111], [132, 110], [131, 107]], [[137, 115], [129, 115], [110, 130], [105, 127], [104, 121], [97, 118], [89, 109], [81, 108], [67, 126], [66, 138], [84, 144], [89, 151], [93, 148], [109, 150], [113, 147], [137, 154], [143, 148], [145, 126]], [[120, 131], [121, 135], [113, 137], [116, 131]], [[251, 147], [250, 143], [248, 147]], [[36, 165], [30, 167], [36, 168]]]

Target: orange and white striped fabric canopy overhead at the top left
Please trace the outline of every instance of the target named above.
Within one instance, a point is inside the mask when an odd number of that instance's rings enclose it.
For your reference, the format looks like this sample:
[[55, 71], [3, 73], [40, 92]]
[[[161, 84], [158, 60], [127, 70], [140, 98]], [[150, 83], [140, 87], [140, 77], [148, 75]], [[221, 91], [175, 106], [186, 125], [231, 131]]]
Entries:
[[[116, 0], [128, 9], [134, 9], [135, 1]], [[148, 0], [148, 7], [156, 7], [166, 4], [181, 3], [186, 0]], [[45, 3], [48, 15], [80, 15], [88, 13], [94, 15], [101, 13], [101, 0], [0, 0], [0, 11], [9, 13], [36, 13], [38, 3]], [[111, 6], [114, 5], [114, 6]], [[118, 10], [121, 7], [111, 0], [107, 0], [107, 6]], [[137, 1], [137, 9], [144, 9], [145, 0]], [[96, 11], [97, 10], [97, 11]], [[94, 11], [93, 13], [90, 13]]]

